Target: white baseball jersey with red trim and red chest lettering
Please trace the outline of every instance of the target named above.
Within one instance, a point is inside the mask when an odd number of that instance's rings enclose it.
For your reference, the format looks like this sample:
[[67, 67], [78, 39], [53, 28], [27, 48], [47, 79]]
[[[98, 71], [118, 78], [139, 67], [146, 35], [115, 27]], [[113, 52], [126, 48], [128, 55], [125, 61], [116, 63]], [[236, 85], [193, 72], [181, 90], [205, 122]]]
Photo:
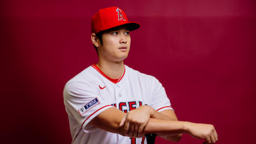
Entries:
[[107, 77], [96, 65], [87, 67], [67, 82], [64, 89], [72, 143], [146, 143], [146, 138], [129, 138], [91, 126], [99, 113], [116, 107], [127, 113], [148, 105], [157, 111], [172, 109], [164, 87], [152, 76], [124, 65], [119, 79]]

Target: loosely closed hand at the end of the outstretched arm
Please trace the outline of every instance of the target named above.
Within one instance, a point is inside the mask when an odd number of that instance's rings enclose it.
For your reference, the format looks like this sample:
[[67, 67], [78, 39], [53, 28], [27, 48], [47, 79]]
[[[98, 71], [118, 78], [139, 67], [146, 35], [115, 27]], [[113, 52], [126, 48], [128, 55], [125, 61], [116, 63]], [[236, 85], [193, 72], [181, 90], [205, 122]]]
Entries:
[[215, 143], [218, 140], [214, 126], [210, 124], [188, 122], [188, 132], [195, 138], [205, 139], [206, 143]]

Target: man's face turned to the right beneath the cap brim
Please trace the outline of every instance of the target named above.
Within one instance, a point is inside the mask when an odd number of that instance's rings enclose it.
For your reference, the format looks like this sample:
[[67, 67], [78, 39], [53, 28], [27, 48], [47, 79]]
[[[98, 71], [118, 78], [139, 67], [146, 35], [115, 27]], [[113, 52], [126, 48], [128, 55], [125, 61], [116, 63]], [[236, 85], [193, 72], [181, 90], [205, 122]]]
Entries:
[[121, 62], [128, 56], [130, 45], [131, 37], [127, 28], [112, 28], [102, 34], [99, 57], [111, 62]]

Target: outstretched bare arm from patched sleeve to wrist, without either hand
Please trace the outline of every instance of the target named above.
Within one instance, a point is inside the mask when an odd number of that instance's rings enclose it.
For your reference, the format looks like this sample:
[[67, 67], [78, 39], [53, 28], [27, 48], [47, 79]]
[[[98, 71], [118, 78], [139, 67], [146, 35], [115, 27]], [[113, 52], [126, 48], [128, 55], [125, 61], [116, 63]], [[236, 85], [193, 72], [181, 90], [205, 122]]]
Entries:
[[[110, 108], [93, 118], [90, 124], [105, 131], [124, 135], [124, 126], [120, 127], [119, 123], [125, 115], [126, 113], [118, 109]], [[144, 128], [143, 134], [156, 133], [157, 135], [176, 135], [183, 133], [183, 124], [184, 122], [181, 121], [166, 121], [150, 118], [149, 123]]]

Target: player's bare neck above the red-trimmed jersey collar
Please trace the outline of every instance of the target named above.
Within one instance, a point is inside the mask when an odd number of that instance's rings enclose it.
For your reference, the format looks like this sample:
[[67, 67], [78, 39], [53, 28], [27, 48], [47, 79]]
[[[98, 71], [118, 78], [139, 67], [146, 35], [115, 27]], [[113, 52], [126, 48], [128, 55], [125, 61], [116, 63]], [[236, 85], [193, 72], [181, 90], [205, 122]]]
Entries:
[[121, 62], [106, 62], [100, 61], [96, 64], [108, 77], [119, 79], [124, 72], [124, 61]]

